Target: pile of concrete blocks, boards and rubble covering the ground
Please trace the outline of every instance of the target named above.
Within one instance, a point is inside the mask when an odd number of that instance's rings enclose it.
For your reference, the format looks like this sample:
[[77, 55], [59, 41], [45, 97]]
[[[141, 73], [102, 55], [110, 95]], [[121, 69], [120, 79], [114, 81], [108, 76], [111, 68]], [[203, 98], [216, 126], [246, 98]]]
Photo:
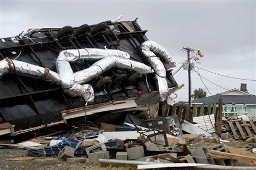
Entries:
[[[209, 164], [213, 169], [255, 166], [255, 133], [246, 140], [234, 140], [230, 132], [226, 133], [228, 136], [223, 133], [219, 137], [215, 133], [214, 122], [213, 126], [207, 124], [211, 118], [214, 120], [213, 114], [194, 117], [196, 124], [192, 124], [180, 122], [177, 115], [143, 120], [127, 114], [121, 126], [87, 124], [58, 136], [37, 137], [19, 144], [1, 144], [1, 147], [28, 149], [28, 157], [10, 158], [8, 161], [31, 160], [38, 164], [56, 164], [62, 160], [68, 164], [99, 162], [100, 166], [111, 164], [143, 169], [205, 168]], [[203, 123], [206, 125], [202, 126]], [[242, 127], [255, 128], [250, 123]]]

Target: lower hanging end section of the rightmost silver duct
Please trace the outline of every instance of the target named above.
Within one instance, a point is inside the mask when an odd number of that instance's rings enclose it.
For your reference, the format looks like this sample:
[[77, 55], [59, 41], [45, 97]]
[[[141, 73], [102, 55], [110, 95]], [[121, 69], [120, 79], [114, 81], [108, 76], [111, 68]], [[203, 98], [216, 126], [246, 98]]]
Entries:
[[167, 81], [165, 78], [159, 77], [156, 74], [154, 75], [154, 78], [156, 79], [157, 89], [159, 91], [159, 101], [164, 102], [169, 96]]

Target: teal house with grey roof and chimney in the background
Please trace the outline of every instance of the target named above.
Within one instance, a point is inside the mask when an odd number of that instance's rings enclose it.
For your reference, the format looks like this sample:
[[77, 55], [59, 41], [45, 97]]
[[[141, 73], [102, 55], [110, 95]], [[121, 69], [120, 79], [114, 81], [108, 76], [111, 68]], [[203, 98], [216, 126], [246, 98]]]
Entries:
[[219, 97], [223, 98], [223, 112], [225, 115], [241, 115], [244, 113], [251, 113], [252, 109], [256, 109], [256, 96], [248, 93], [247, 84], [242, 84], [240, 90], [232, 89], [224, 91], [223, 93], [199, 98], [193, 100], [192, 104], [200, 105], [217, 105]]

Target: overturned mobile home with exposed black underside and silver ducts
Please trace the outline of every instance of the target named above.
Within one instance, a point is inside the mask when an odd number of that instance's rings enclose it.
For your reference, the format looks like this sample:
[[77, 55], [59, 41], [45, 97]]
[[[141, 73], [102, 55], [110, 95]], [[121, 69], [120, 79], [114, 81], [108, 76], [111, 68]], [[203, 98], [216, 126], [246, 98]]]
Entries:
[[118, 19], [1, 38], [0, 135], [118, 122], [129, 113], [150, 118], [170, 103], [182, 87], [173, 57], [137, 19]]

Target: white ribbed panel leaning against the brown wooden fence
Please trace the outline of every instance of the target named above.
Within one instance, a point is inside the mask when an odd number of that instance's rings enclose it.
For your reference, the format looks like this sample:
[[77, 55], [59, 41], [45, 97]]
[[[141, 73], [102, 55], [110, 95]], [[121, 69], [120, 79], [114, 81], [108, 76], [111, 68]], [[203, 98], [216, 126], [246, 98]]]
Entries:
[[214, 129], [215, 118], [213, 114], [206, 115], [206, 116], [193, 117], [193, 122], [197, 123], [194, 126], [197, 126], [208, 133], [215, 132], [215, 129]]

